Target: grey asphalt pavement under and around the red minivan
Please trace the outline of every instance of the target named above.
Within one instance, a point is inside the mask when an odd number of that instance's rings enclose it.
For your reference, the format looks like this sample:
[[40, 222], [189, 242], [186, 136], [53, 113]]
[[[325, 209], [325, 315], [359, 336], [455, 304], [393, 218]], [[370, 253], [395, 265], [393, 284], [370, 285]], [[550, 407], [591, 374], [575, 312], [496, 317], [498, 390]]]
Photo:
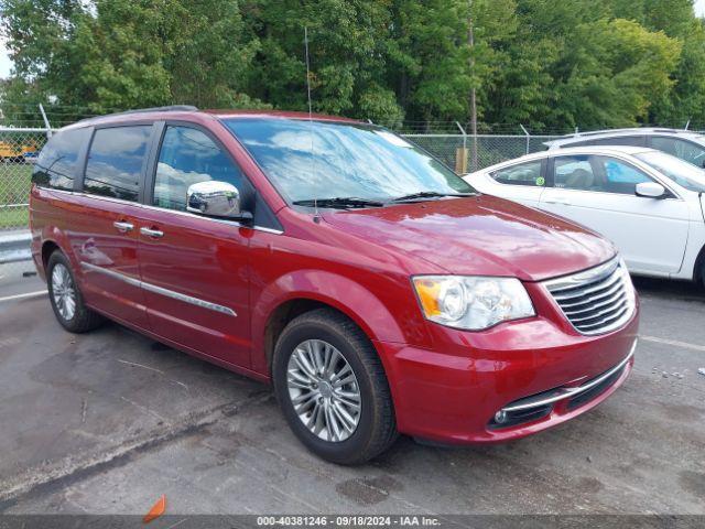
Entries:
[[595, 410], [501, 445], [402, 438], [340, 467], [302, 447], [267, 386], [116, 324], [68, 334], [43, 283], [15, 283], [0, 295], [0, 512], [142, 515], [164, 494], [180, 515], [705, 515], [693, 284], [636, 280], [634, 370]]

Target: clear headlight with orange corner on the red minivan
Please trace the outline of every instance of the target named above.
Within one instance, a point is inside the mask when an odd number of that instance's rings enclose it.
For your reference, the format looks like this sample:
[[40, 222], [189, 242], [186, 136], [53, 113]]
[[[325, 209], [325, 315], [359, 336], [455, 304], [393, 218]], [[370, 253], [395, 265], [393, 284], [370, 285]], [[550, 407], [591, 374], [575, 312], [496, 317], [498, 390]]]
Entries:
[[449, 327], [480, 331], [535, 315], [516, 278], [416, 276], [412, 281], [426, 319]]

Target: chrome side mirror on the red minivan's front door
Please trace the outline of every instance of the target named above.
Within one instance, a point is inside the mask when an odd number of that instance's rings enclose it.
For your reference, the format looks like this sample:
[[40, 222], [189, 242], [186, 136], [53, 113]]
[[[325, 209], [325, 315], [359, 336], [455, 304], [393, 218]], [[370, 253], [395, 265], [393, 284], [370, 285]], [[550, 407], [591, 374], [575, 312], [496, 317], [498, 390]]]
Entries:
[[240, 209], [240, 192], [228, 182], [209, 180], [188, 186], [186, 210], [207, 217], [251, 220], [249, 212]]

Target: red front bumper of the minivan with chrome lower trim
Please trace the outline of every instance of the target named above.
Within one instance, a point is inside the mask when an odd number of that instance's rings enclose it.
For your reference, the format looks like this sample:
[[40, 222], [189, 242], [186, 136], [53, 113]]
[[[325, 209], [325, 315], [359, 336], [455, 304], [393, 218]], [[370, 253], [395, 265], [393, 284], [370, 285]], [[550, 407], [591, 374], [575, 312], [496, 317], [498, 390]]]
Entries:
[[[546, 319], [474, 335], [436, 326], [445, 353], [376, 343], [400, 432], [448, 444], [519, 439], [603, 402], [633, 365], [638, 311], [601, 336], [567, 334]], [[496, 414], [505, 411], [503, 421]]]

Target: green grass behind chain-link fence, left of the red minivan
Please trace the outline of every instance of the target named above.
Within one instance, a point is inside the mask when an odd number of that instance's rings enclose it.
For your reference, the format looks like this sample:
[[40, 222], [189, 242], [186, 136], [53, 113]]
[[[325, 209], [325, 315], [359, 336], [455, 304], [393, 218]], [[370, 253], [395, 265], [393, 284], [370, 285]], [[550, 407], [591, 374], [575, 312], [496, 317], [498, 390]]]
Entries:
[[25, 206], [7, 206], [29, 202], [31, 179], [31, 164], [0, 162], [0, 229], [28, 226], [30, 217]]

